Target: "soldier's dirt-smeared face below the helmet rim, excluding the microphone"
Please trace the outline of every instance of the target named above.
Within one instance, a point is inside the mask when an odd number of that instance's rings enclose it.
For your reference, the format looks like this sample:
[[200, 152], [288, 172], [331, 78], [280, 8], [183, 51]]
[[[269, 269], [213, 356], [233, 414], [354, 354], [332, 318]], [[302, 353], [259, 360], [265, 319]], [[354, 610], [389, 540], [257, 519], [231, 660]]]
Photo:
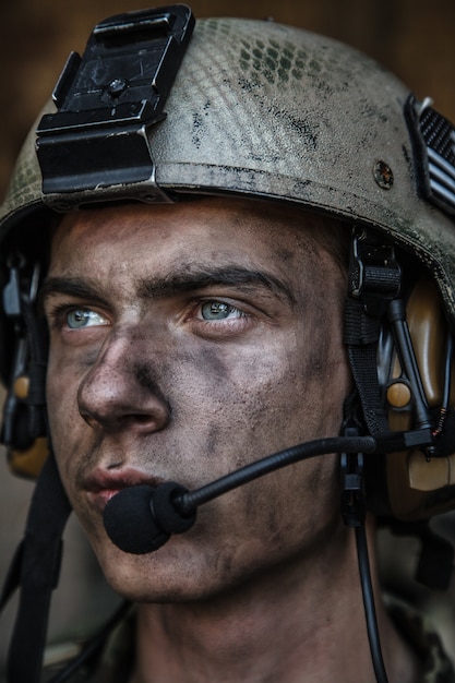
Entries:
[[201, 506], [154, 553], [122, 552], [101, 518], [125, 486], [194, 489], [338, 433], [345, 281], [312, 237], [319, 220], [205, 200], [83, 211], [56, 233], [52, 444], [105, 574], [130, 599], [202, 598], [283, 562], [318, 563], [339, 532], [332, 455]]

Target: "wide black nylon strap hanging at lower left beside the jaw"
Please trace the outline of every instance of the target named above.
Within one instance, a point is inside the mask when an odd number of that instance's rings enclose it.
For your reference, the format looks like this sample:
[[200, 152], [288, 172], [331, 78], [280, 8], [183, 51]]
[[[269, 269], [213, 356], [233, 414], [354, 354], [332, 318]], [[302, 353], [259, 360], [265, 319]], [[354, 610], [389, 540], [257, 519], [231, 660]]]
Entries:
[[20, 602], [8, 660], [8, 683], [39, 683], [50, 598], [60, 570], [61, 536], [70, 513], [71, 505], [50, 455], [32, 499], [22, 550], [13, 560], [13, 568], [3, 589], [8, 599], [15, 584], [20, 583]]

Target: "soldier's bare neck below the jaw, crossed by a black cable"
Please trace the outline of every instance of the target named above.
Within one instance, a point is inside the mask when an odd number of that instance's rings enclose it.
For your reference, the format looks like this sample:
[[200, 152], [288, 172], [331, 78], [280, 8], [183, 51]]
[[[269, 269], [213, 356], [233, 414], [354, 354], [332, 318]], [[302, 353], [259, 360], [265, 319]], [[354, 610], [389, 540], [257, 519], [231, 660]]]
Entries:
[[[140, 606], [131, 683], [374, 683], [354, 535], [343, 539], [336, 562], [296, 559], [204, 601]], [[376, 612], [391, 680], [411, 683], [378, 597]]]

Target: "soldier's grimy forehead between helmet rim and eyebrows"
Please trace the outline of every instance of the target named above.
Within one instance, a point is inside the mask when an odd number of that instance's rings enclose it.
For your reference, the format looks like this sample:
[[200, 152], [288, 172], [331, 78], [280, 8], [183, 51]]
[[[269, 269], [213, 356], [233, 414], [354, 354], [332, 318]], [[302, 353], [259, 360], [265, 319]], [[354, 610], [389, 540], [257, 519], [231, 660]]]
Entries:
[[[315, 238], [321, 218], [268, 202], [206, 199], [173, 205], [131, 204], [67, 215], [51, 250], [53, 271], [153, 264], [159, 272], [191, 263], [241, 264], [301, 273], [327, 253]], [[109, 265], [110, 264], [110, 265]]]

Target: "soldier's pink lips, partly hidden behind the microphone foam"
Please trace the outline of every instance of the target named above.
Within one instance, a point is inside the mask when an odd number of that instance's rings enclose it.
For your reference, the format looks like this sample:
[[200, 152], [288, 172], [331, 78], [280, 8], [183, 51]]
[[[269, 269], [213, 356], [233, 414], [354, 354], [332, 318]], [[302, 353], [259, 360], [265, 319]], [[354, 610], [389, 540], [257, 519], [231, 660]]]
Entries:
[[86, 478], [83, 488], [87, 493], [89, 502], [103, 512], [106, 504], [119, 491], [143, 484], [156, 488], [158, 483], [159, 481], [156, 478], [135, 469], [119, 470], [117, 472], [96, 469]]

